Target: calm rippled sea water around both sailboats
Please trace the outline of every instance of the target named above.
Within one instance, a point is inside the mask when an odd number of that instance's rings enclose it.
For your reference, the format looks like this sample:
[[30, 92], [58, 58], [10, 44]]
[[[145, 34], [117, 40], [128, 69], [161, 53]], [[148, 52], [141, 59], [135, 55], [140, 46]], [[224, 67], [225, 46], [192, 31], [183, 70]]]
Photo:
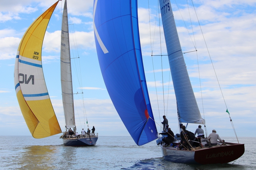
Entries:
[[[0, 169], [127, 169], [127, 170], [251, 170], [256, 169], [255, 137], [240, 137], [242, 157], [227, 164], [191, 165], [165, 161], [152, 141], [137, 146], [130, 136], [99, 136], [96, 146], [63, 146], [60, 136], [35, 139], [4, 136], [0, 144]], [[234, 137], [222, 137], [237, 143]]]

